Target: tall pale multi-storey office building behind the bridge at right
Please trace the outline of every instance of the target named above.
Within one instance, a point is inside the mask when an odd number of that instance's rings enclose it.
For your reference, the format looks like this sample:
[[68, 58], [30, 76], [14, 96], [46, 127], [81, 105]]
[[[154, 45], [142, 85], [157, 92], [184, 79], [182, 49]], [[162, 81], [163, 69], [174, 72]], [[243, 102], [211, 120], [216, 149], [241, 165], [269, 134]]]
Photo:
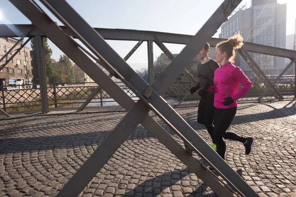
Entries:
[[[277, 0], [252, 0], [250, 8], [246, 5], [233, 12], [223, 25], [220, 38], [227, 39], [240, 32], [244, 41], [268, 46], [286, 48], [287, 4], [278, 4]], [[265, 74], [276, 75], [285, 67], [285, 58], [251, 53]], [[249, 77], [253, 70], [238, 55], [235, 64], [240, 66]]]

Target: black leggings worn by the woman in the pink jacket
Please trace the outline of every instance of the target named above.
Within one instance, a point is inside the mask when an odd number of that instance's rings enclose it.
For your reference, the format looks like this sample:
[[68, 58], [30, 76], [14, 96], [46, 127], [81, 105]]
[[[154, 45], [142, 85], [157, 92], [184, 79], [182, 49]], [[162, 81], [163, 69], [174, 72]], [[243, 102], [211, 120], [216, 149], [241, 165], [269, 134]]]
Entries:
[[235, 114], [236, 114], [237, 107], [227, 108], [227, 109], [215, 109], [214, 115], [214, 138], [217, 145], [217, 152], [218, 154], [224, 159], [225, 151], [226, 151], [226, 144], [223, 140], [230, 139], [234, 141], [239, 141], [244, 143], [246, 138], [237, 135], [234, 132], [229, 132], [226, 130], [230, 126]]

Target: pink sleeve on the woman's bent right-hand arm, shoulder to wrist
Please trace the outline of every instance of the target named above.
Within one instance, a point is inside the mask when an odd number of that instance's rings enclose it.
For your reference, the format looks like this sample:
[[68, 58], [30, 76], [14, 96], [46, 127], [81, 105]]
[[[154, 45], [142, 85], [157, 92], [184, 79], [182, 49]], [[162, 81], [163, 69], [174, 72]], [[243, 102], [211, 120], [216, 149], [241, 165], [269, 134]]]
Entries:
[[252, 82], [245, 75], [245, 73], [240, 69], [240, 67], [235, 67], [232, 71], [233, 78], [238, 82], [243, 84], [243, 87], [235, 95], [231, 96], [234, 101], [241, 99], [245, 96], [249, 90], [252, 88]]

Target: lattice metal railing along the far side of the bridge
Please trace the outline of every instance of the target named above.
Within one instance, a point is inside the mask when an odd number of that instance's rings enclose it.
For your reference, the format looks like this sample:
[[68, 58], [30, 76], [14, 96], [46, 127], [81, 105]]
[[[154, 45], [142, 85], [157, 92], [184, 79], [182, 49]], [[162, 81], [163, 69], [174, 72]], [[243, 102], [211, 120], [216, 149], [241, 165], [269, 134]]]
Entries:
[[[272, 79], [271, 79], [272, 82]], [[251, 90], [245, 97], [259, 97], [266, 87], [259, 80], [253, 80]], [[126, 85], [117, 82], [118, 86], [134, 100], [138, 97]], [[166, 91], [163, 97], [167, 100], [180, 101], [185, 97], [192, 87], [192, 83], [188, 81], [176, 81]], [[36, 86], [30, 88], [14, 89], [8, 88], [11, 86], [0, 86], [0, 108], [4, 111], [13, 110], [31, 110], [38, 109], [41, 106], [40, 102], [40, 89]], [[35, 88], [31, 88], [35, 87]], [[58, 107], [78, 107], [83, 103], [93, 91], [96, 90], [98, 85], [96, 83], [71, 83], [71, 84], [48, 84], [47, 96], [50, 108]], [[294, 95], [295, 79], [294, 78], [281, 78], [275, 84], [278, 91], [284, 96]], [[15, 89], [18, 88], [18, 89]], [[269, 95], [266, 95], [269, 96]], [[271, 96], [271, 94], [270, 94]], [[198, 100], [200, 99], [197, 93], [189, 95], [185, 100]], [[101, 89], [98, 94], [90, 101], [92, 106], [103, 105], [117, 105], [117, 103]]]

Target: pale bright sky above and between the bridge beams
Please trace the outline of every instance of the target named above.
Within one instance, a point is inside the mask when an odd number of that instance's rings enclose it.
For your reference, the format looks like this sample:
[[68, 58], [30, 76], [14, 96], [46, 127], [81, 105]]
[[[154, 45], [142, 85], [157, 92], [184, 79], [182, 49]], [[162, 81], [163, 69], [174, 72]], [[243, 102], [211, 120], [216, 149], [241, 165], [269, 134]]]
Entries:
[[[45, 12], [59, 25], [63, 25], [38, 0]], [[147, 30], [194, 35], [206, 23], [223, 0], [67, 0], [67, 2], [95, 28]], [[287, 3], [287, 34], [293, 34], [296, 19], [296, 0], [277, 0]], [[240, 5], [251, 6], [251, 0]], [[294, 10], [293, 10], [294, 8]], [[8, 0], [0, 0], [0, 24], [31, 24]], [[218, 37], [221, 30], [214, 35]], [[137, 43], [135, 41], [107, 41], [123, 58]], [[51, 41], [52, 58], [63, 54]], [[185, 45], [165, 44], [172, 53], [180, 53]], [[28, 45], [30, 47], [30, 45]], [[154, 60], [161, 54], [153, 45]], [[147, 43], [144, 42], [127, 63], [134, 69], [148, 66]]]

